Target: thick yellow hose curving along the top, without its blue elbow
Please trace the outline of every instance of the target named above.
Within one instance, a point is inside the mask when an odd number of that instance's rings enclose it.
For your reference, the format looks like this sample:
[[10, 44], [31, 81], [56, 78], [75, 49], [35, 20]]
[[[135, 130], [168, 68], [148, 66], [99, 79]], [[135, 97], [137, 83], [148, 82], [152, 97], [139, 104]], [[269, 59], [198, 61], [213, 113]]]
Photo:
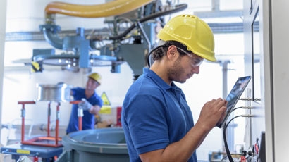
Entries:
[[152, 0], [115, 0], [105, 4], [90, 6], [54, 1], [46, 6], [45, 13], [47, 15], [59, 13], [83, 18], [101, 18], [128, 13], [149, 4], [151, 1]]

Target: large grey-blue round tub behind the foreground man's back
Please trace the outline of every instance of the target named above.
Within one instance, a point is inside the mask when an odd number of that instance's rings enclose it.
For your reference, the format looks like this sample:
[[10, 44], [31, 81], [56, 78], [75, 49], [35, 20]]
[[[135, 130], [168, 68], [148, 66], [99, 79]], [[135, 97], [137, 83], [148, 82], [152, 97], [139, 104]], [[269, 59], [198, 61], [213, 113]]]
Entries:
[[64, 152], [58, 161], [130, 161], [122, 128], [72, 132], [62, 138]]

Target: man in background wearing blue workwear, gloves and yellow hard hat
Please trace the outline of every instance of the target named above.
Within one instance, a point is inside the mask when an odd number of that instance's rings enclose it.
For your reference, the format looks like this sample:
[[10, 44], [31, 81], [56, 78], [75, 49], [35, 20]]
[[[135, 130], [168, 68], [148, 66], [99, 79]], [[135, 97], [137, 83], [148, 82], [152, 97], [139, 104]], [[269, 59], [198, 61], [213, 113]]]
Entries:
[[78, 131], [78, 108], [82, 108], [82, 130], [94, 129], [94, 116], [102, 108], [102, 98], [95, 92], [95, 89], [101, 84], [101, 76], [98, 73], [92, 73], [88, 76], [86, 87], [75, 87], [71, 89], [71, 95], [74, 101], [81, 101], [79, 104], [73, 104], [70, 120], [66, 133]]

